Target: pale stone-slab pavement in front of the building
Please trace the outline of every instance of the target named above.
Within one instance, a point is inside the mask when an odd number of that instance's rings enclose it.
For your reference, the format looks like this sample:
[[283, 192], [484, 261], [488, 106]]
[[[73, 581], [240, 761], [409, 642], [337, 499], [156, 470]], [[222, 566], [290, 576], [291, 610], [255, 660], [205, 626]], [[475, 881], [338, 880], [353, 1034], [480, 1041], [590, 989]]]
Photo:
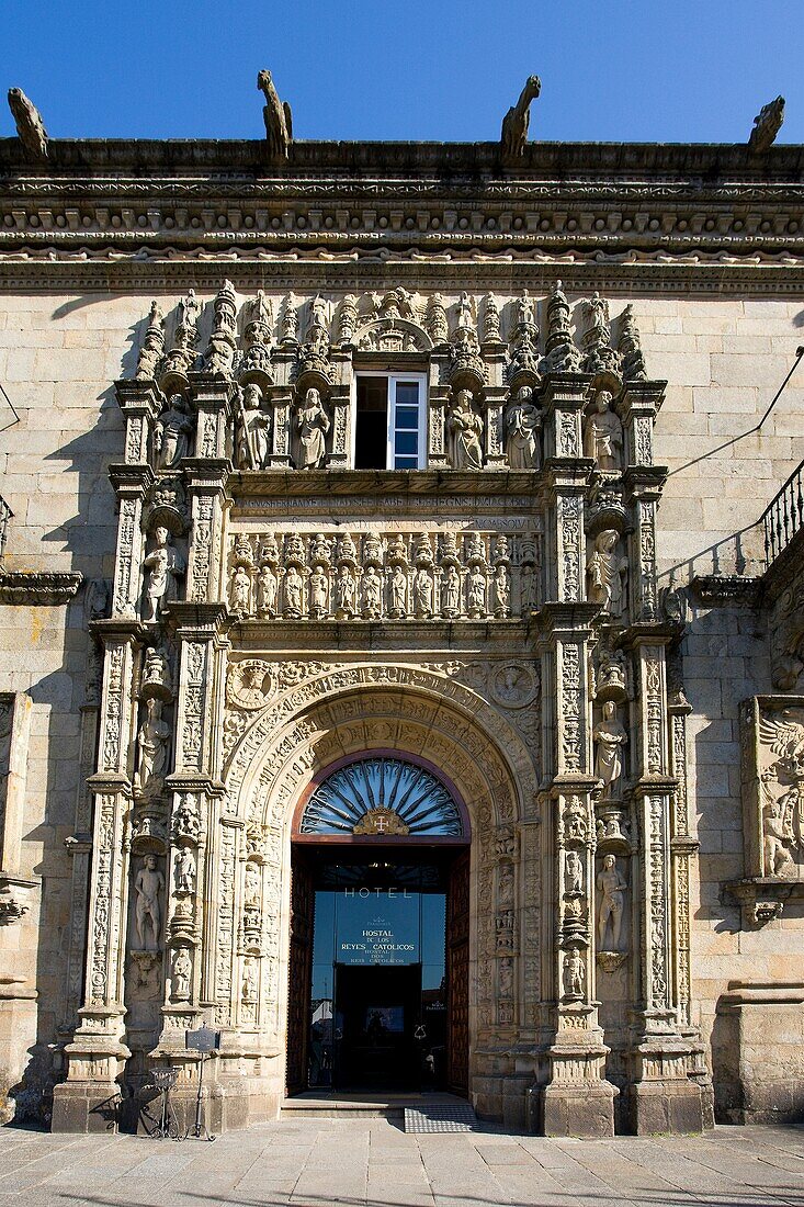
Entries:
[[214, 1144], [0, 1129], [0, 1207], [804, 1207], [804, 1129], [544, 1139], [290, 1120]]

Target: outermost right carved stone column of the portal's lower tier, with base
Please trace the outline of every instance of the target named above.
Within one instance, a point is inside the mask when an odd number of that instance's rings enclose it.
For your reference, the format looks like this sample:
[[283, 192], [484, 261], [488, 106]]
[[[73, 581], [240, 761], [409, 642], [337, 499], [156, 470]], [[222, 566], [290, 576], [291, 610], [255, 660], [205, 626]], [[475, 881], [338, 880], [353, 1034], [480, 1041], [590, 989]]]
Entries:
[[641, 911], [628, 1108], [637, 1135], [700, 1131], [701, 1091], [689, 1079], [695, 1044], [680, 1028], [674, 992], [676, 933], [671, 909], [671, 806], [665, 646], [659, 625], [631, 630], [637, 683], [634, 809], [639, 856], [634, 891]]

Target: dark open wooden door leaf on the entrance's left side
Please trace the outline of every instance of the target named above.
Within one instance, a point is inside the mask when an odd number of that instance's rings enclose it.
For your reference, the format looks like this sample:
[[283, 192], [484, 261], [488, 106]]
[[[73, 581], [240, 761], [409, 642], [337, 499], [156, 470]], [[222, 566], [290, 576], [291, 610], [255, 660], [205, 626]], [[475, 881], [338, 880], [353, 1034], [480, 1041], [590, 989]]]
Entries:
[[310, 975], [313, 968], [313, 912], [315, 894], [309, 868], [293, 863], [291, 880], [290, 981], [287, 986], [287, 1063], [285, 1090], [307, 1089], [307, 1046], [310, 1031]]

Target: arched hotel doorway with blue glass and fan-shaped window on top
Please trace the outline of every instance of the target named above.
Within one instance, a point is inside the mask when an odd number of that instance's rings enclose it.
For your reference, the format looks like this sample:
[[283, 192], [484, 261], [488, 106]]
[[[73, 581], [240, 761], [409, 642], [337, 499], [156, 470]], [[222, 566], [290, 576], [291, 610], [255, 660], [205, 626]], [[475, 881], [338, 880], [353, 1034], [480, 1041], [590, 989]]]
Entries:
[[292, 829], [289, 1094], [468, 1091], [470, 842], [418, 756], [313, 779]]

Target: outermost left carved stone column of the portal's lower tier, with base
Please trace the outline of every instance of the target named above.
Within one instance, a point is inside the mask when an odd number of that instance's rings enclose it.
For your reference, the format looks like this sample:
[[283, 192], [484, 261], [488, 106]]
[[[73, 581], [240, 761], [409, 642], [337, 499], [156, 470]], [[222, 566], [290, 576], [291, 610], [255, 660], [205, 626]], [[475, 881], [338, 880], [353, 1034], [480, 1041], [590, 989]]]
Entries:
[[66, 1045], [68, 1080], [54, 1089], [54, 1131], [107, 1131], [116, 1125], [117, 1079], [130, 1055], [123, 1019], [124, 922], [128, 904], [126, 829], [132, 803], [133, 694], [142, 629], [97, 622], [105, 647], [94, 804], [85, 1004]]

